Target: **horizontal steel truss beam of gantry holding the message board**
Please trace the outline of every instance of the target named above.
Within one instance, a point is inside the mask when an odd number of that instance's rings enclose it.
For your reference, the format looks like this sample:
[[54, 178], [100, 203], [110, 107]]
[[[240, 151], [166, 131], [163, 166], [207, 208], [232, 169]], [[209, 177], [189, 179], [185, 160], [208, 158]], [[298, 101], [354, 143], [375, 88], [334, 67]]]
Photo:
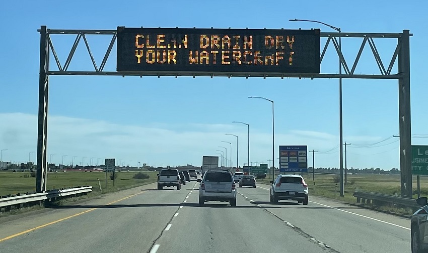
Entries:
[[[40, 31], [40, 30], [39, 30]], [[321, 37], [327, 38], [326, 43], [323, 46], [323, 51], [320, 56], [321, 63], [324, 59], [325, 53], [327, 51], [328, 46], [332, 42], [335, 52], [339, 58], [340, 64], [342, 65], [345, 73], [341, 75], [337, 75], [334, 73], [321, 73], [321, 74], [307, 74], [307, 73], [153, 73], [153, 72], [114, 72], [114, 71], [104, 71], [105, 64], [111, 54], [111, 50], [116, 42], [117, 38], [117, 32], [116, 30], [61, 30], [61, 29], [47, 29], [47, 43], [49, 45], [49, 49], [52, 51], [53, 58], [56, 62], [57, 70], [54, 69], [48, 69], [47, 74], [48, 75], [131, 75], [131, 76], [160, 76], [160, 75], [167, 75], [167, 76], [235, 76], [235, 77], [249, 77], [249, 76], [261, 76], [261, 77], [297, 77], [297, 78], [356, 78], [356, 79], [399, 79], [401, 78], [401, 75], [399, 73], [391, 74], [392, 68], [394, 66], [394, 63], [396, 61], [397, 55], [400, 51], [400, 46], [397, 44], [396, 50], [394, 52], [394, 55], [391, 58], [391, 61], [387, 68], [385, 68], [385, 65], [383, 64], [381, 57], [379, 55], [379, 52], [376, 48], [375, 42], [373, 38], [400, 38], [402, 36], [402, 33], [321, 33]], [[65, 63], [62, 65], [61, 62], [58, 59], [58, 56], [56, 54], [55, 48], [53, 46], [51, 36], [50, 35], [60, 35], [60, 34], [68, 34], [68, 35], [76, 35], [76, 39], [73, 43], [72, 49], [70, 50], [67, 59], [65, 60]], [[86, 35], [111, 35], [111, 41], [107, 48], [106, 53], [104, 54], [103, 60], [100, 64], [100, 66], [97, 65], [96, 60], [92, 54], [90, 45], [88, 43]], [[411, 34], [409, 34], [411, 36]], [[358, 51], [358, 54], [355, 57], [355, 60], [353, 61], [352, 65], [348, 65], [346, 59], [344, 58], [341, 50], [339, 49], [339, 45], [337, 42], [337, 38], [363, 38], [363, 42], [361, 44], [360, 50]], [[76, 49], [79, 45], [79, 43], [84, 41], [86, 49], [89, 53], [89, 57], [91, 59], [93, 69], [83, 70], [83, 71], [68, 71], [68, 67], [70, 65], [70, 62], [73, 59], [73, 56], [75, 55]], [[356, 75], [355, 69], [358, 65], [358, 62], [360, 60], [361, 54], [366, 46], [366, 44], [369, 44], [371, 51], [373, 53], [374, 59], [379, 67], [381, 74], [360, 74]], [[351, 66], [349, 69], [348, 66]]]

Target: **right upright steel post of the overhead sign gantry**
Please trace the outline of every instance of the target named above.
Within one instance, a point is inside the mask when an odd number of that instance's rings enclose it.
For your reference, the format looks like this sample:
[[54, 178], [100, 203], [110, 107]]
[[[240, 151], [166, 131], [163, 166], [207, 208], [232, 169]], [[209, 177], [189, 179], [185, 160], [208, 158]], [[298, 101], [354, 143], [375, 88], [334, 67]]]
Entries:
[[398, 53], [398, 107], [400, 133], [401, 196], [412, 197], [411, 121], [410, 121], [410, 34], [403, 30]]

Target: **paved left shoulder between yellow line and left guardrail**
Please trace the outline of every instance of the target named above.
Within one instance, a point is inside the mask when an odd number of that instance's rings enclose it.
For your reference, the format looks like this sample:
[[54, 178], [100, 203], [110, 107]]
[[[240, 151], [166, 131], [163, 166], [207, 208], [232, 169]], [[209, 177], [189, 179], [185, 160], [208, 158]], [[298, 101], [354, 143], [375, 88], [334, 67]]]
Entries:
[[[140, 190], [143, 189], [153, 189], [156, 188], [156, 183], [139, 186], [136, 188], [131, 188], [127, 190], [122, 190], [118, 192], [112, 192], [108, 194], [102, 194], [98, 197], [79, 200], [76, 203], [91, 203], [94, 205], [105, 205], [119, 199], [131, 196], [133, 194], [141, 193]], [[91, 193], [89, 193], [90, 195]], [[75, 203], [75, 204], [76, 204]], [[67, 209], [58, 209], [58, 208], [42, 208], [40, 210], [32, 210], [29, 212], [22, 212], [14, 215], [8, 215], [0, 218], [0, 240], [7, 236], [32, 229], [34, 227], [41, 226], [46, 223], [54, 222], [65, 217], [76, 215], [83, 211], [89, 210], [90, 208], [67, 208]]]

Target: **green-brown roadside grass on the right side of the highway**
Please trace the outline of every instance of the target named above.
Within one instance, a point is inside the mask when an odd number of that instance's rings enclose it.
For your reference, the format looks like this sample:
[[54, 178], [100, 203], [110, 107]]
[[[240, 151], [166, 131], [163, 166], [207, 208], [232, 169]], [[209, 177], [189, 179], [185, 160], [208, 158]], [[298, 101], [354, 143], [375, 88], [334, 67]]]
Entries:
[[[296, 173], [299, 175], [300, 173]], [[347, 183], [344, 188], [344, 197], [340, 197], [339, 192], [339, 175], [332, 174], [315, 174], [315, 185], [312, 179], [312, 173], [303, 173], [305, 182], [308, 184], [310, 195], [323, 196], [337, 199], [346, 203], [355, 204], [356, 198], [352, 196], [355, 191], [377, 192], [388, 195], [400, 195], [400, 174], [356, 174], [347, 175]], [[258, 179], [258, 183], [270, 184], [271, 179]], [[416, 195], [416, 176], [413, 176], [413, 195]], [[420, 176], [421, 196], [428, 196], [428, 177]], [[400, 214], [411, 214], [412, 210], [406, 208], [397, 208], [392, 206], [373, 206], [370, 207], [382, 211], [396, 212]]]

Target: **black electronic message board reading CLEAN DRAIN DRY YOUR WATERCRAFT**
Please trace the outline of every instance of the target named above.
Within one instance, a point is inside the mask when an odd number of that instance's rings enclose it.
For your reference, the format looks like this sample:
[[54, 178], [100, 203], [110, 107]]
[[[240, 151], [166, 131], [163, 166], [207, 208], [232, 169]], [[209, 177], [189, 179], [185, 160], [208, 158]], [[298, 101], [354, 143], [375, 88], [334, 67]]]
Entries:
[[188, 76], [320, 73], [320, 30], [118, 27], [117, 71]]

